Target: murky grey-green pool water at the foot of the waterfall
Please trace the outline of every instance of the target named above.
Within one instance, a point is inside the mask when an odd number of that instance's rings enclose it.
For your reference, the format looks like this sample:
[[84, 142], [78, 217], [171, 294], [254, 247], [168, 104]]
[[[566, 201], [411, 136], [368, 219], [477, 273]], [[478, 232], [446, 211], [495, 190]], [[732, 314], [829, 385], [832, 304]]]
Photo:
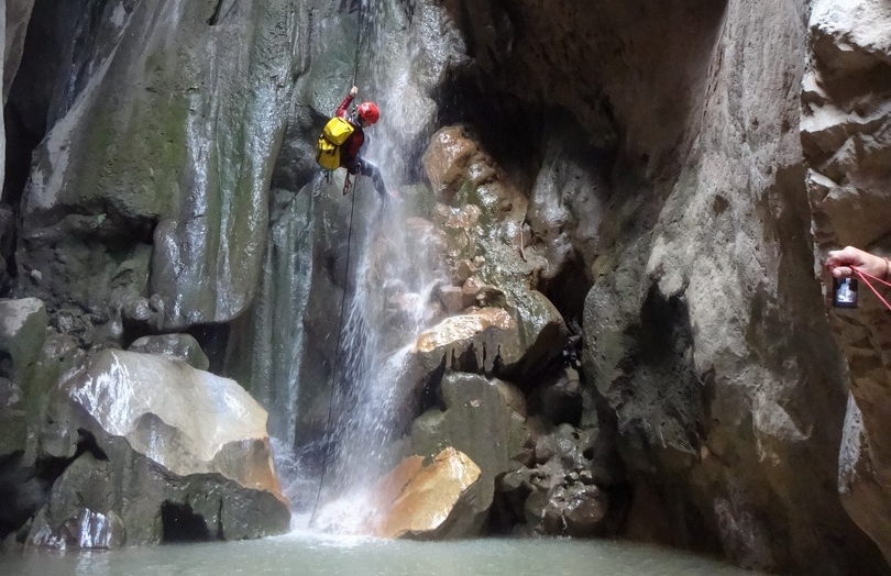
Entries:
[[407, 542], [292, 533], [248, 542], [0, 555], [15, 576], [757, 576], [712, 558], [627, 542]]

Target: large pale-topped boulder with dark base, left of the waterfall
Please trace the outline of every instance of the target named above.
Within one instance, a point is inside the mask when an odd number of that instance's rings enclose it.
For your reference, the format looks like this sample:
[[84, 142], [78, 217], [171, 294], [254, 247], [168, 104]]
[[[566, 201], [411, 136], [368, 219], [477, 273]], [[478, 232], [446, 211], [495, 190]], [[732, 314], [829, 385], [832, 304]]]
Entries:
[[[32, 544], [240, 540], [288, 529], [266, 411], [235, 381], [182, 359], [92, 356], [61, 385], [41, 445], [73, 464], [35, 518]], [[96, 523], [108, 532], [84, 532]]]

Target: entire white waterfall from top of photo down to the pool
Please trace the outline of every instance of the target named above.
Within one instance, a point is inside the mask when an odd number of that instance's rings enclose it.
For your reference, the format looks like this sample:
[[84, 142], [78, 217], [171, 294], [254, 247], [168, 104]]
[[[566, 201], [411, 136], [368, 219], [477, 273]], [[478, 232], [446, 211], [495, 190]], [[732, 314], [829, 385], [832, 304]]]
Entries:
[[[362, 154], [381, 168], [393, 192], [407, 176], [405, 158], [411, 156], [413, 146], [407, 135], [413, 128], [417, 132], [410, 123], [418, 118], [404, 111], [418, 107], [402, 102], [411, 90], [409, 66], [417, 54], [404, 54], [404, 64], [394, 66], [393, 42], [398, 35], [389, 27], [395, 22], [405, 30], [413, 11], [414, 2], [363, 0], [356, 12], [362, 46], [356, 66], [360, 99], [375, 99], [383, 114], [367, 130]], [[402, 36], [399, 51], [413, 49], [405, 34]], [[385, 60], [382, 54], [387, 55]], [[371, 182], [362, 177], [351, 193], [375, 196]], [[366, 221], [354, 225], [361, 234], [351, 240], [351, 280], [346, 285], [354, 288], [345, 296], [324, 443], [330, 452], [319, 488], [320, 503], [312, 514], [312, 528], [342, 533], [367, 532], [373, 522], [374, 484], [400, 456], [396, 441], [410, 417], [407, 409], [413, 391], [399, 386], [400, 376], [418, 334], [436, 317], [431, 297], [447, 283], [431, 239], [410, 225], [408, 203], [389, 198], [372, 213], [358, 212], [355, 218]]]

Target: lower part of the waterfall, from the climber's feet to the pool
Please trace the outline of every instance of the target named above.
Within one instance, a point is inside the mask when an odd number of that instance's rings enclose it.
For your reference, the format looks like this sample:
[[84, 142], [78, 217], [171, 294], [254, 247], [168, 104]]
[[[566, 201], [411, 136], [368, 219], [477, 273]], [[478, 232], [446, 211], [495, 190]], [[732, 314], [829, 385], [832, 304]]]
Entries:
[[330, 429], [334, 452], [322, 495], [334, 502], [316, 522], [324, 530], [363, 532], [376, 512], [373, 486], [402, 455], [398, 440], [414, 398], [400, 376], [417, 334], [432, 319], [430, 298], [442, 281], [432, 263], [415, 266], [417, 258], [408, 257], [418, 246], [408, 242], [407, 215], [398, 203], [382, 207], [358, 243]]

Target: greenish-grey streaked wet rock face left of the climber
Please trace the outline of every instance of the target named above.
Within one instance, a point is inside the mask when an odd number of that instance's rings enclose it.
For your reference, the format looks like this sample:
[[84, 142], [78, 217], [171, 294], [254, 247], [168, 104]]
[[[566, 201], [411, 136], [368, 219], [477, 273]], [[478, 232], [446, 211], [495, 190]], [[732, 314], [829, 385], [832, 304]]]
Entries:
[[156, 292], [168, 326], [248, 306], [294, 30], [288, 2], [228, 11], [215, 25], [207, 10], [110, 2], [90, 14], [98, 42], [63, 47], [73, 69], [56, 81], [76, 93], [51, 103], [55, 123], [23, 193], [23, 289], [84, 308]]

